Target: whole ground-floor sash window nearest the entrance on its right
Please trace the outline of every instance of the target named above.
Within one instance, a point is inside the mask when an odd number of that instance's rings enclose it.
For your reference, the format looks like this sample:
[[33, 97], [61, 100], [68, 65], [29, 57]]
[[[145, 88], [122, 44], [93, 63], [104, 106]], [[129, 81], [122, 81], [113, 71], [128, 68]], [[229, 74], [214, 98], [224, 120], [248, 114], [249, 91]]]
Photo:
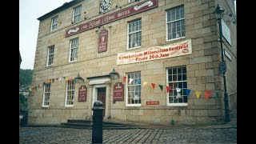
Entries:
[[141, 73], [126, 75], [126, 106], [141, 106]]

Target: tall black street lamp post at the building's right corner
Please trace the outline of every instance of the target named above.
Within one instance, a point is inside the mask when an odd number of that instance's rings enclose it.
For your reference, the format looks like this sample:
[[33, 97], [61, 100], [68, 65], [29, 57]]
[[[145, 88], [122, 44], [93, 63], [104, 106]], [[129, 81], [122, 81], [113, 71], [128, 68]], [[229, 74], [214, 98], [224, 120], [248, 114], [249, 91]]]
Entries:
[[[222, 71], [223, 74], [223, 81], [224, 81], [224, 104], [225, 104], [225, 122], [230, 122], [230, 111], [229, 111], [229, 98], [226, 93], [226, 76], [225, 76], [225, 71], [226, 71], [226, 63], [224, 61], [224, 53], [223, 53], [223, 47], [222, 47], [222, 14], [224, 13], [224, 10], [221, 9], [219, 6], [217, 6], [216, 10], [214, 11], [214, 16], [217, 19], [218, 22], [218, 27], [219, 27], [219, 37], [220, 37], [220, 42], [221, 42], [221, 50], [222, 50], [222, 63], [220, 66], [225, 67]], [[220, 68], [221, 70], [221, 68]]]

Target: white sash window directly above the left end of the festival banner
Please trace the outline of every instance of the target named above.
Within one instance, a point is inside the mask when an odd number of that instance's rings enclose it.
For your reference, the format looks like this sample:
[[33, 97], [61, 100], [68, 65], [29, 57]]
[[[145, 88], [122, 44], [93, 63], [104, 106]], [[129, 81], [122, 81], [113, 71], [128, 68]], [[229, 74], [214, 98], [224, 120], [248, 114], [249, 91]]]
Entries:
[[142, 20], [128, 23], [128, 49], [142, 46]]

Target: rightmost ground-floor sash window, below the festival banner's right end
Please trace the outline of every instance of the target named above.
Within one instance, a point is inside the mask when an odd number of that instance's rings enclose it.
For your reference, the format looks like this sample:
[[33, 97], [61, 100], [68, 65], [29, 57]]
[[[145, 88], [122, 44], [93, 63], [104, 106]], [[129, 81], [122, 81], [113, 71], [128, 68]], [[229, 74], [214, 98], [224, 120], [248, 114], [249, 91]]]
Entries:
[[187, 106], [186, 66], [169, 68], [166, 71], [166, 86], [171, 86], [167, 94], [167, 106]]

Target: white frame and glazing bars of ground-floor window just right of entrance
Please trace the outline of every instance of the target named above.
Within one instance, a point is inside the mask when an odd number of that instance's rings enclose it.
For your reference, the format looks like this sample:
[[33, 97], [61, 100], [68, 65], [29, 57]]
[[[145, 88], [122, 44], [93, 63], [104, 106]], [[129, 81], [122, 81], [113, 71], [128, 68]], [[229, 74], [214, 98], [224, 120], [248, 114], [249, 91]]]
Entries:
[[[133, 82], [131, 82], [129, 84], [129, 74], [138, 74], [138, 78], [133, 78]], [[142, 81], [140, 81], [140, 83], [138, 84], [135, 84], [135, 82], [138, 80], [138, 79], [141, 79], [142, 75], [141, 75], [141, 72], [140, 71], [135, 71], [135, 72], [130, 72], [128, 74], [126, 74], [126, 106], [142, 106]], [[137, 91], [137, 93], [139, 93], [140, 95], [138, 95], [137, 98], [140, 98], [141, 102], [140, 103], [137, 103], [137, 104], [129, 104], [128, 103], [128, 86], [140, 86], [140, 91]], [[135, 91], [134, 91], [135, 93]], [[135, 94], [134, 94], [135, 96]], [[134, 97], [135, 98], [135, 97]]]

